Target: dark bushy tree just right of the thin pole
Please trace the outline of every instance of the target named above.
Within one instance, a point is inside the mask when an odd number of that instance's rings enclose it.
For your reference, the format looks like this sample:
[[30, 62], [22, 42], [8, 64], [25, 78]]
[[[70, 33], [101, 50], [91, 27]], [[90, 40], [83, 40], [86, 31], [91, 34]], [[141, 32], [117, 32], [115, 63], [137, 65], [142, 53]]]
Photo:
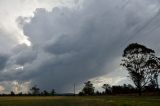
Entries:
[[94, 94], [94, 87], [93, 87], [93, 84], [91, 83], [91, 81], [85, 82], [84, 84], [85, 84], [85, 86], [82, 89], [82, 92], [85, 95], [93, 95]]

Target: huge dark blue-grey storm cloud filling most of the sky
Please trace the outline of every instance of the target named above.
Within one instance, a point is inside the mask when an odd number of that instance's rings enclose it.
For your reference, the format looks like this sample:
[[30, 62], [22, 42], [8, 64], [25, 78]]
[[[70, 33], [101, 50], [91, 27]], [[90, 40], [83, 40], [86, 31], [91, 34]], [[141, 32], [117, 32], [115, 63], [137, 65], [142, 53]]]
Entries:
[[9, 70], [23, 65], [24, 70], [3, 75], [9, 78], [12, 73], [12, 79], [32, 80], [44, 89], [70, 91], [74, 83], [117, 69], [128, 43], [146, 44], [145, 32], [159, 28], [154, 25], [159, 23], [158, 11], [156, 0], [85, 0], [51, 12], [37, 9], [29, 23], [22, 17], [17, 21], [32, 46], [16, 47], [6, 66]]

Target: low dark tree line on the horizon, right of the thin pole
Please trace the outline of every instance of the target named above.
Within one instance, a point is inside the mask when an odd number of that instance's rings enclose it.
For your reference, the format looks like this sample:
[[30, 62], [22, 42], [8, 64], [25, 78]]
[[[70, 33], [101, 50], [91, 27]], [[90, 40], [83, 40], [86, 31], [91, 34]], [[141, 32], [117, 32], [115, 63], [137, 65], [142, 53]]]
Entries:
[[[84, 83], [84, 88], [79, 92], [79, 96], [93, 96], [93, 95], [119, 95], [119, 94], [129, 94], [135, 95], [138, 89], [131, 84], [123, 85], [113, 85], [103, 84], [103, 91], [95, 90], [94, 85], [91, 81]], [[160, 94], [160, 90], [155, 86], [147, 85], [143, 88], [142, 93]]]

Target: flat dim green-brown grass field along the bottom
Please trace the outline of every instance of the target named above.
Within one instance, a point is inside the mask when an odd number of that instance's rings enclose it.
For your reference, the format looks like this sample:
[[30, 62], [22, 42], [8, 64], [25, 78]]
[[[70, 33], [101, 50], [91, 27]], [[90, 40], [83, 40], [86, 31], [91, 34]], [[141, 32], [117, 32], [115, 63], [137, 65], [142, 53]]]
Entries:
[[0, 106], [160, 106], [160, 97], [0, 97]]

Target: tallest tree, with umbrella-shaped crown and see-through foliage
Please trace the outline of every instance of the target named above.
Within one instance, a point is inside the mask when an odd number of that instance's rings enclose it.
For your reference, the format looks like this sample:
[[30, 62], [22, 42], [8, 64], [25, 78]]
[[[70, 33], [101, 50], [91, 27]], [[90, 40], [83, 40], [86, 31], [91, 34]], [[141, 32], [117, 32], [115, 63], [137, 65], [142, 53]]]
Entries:
[[141, 95], [143, 87], [150, 80], [146, 63], [154, 53], [154, 50], [138, 43], [130, 44], [123, 52], [121, 65], [129, 72], [129, 77], [137, 87], [139, 95]]

